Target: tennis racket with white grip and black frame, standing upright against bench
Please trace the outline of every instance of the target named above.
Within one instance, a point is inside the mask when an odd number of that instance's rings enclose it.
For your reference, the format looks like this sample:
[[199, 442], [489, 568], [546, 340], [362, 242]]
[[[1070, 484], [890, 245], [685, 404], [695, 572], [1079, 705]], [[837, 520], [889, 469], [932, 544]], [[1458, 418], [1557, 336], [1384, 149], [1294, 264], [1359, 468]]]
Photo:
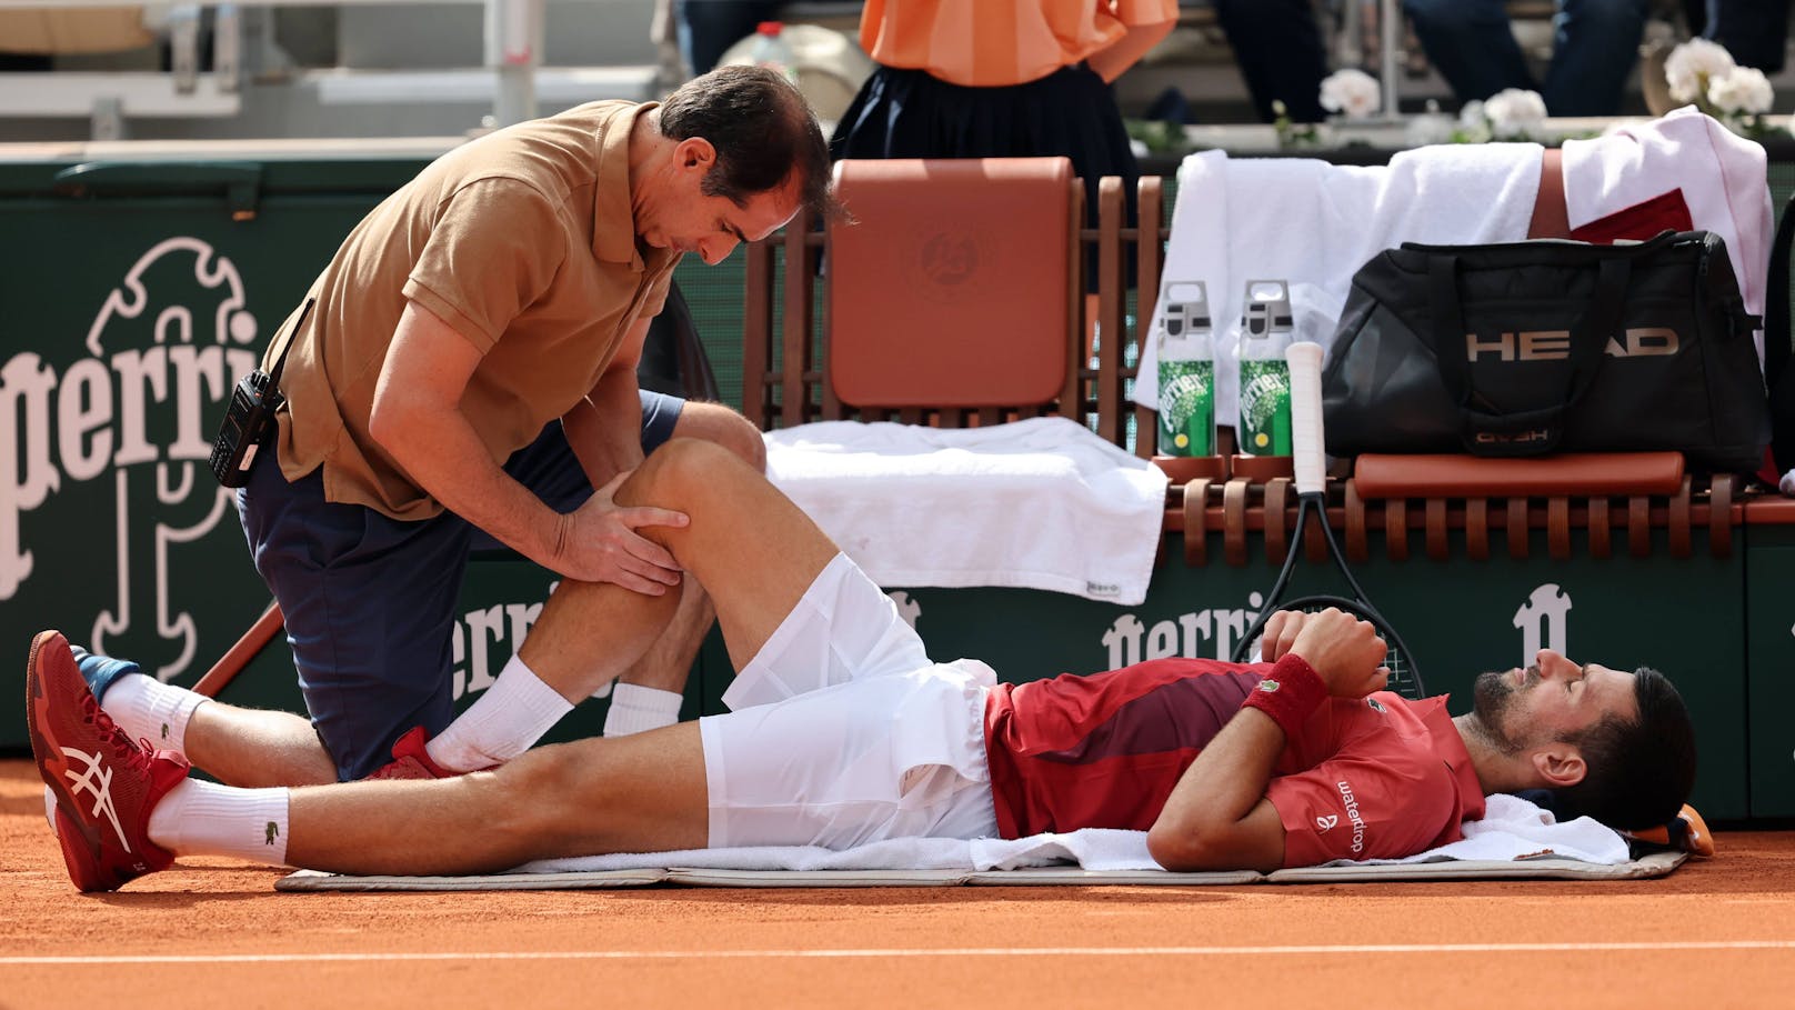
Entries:
[[[1292, 343], [1285, 350], [1285, 361], [1291, 363], [1291, 453], [1294, 455], [1296, 465], [1296, 536], [1291, 537], [1291, 552], [1283, 557], [1283, 568], [1278, 571], [1278, 580], [1273, 582], [1271, 593], [1265, 595], [1265, 604], [1260, 607], [1258, 620], [1248, 629], [1240, 645], [1235, 649], [1233, 661], [1244, 663], [1248, 658], [1258, 651], [1258, 640], [1265, 631], [1265, 622], [1276, 611], [1319, 611], [1325, 607], [1339, 607], [1361, 620], [1371, 622], [1371, 627], [1384, 638], [1389, 645], [1389, 656], [1384, 665], [1389, 667], [1389, 688], [1404, 697], [1420, 699], [1425, 697], [1425, 688], [1422, 687], [1422, 670], [1414, 665], [1414, 654], [1404, 645], [1402, 636], [1397, 634], [1395, 627], [1384, 620], [1384, 615], [1371, 606], [1371, 598], [1364, 595], [1364, 588], [1353, 579], [1352, 570], [1346, 568], [1346, 555], [1341, 552], [1339, 541], [1334, 539], [1334, 530], [1328, 528], [1328, 509], [1327, 509], [1327, 467], [1323, 464], [1323, 439], [1321, 439], [1321, 345], [1319, 343]], [[1328, 557], [1334, 559], [1334, 566], [1339, 568], [1341, 577], [1346, 579], [1346, 586], [1352, 588], [1352, 598], [1335, 597], [1327, 593], [1316, 593], [1309, 597], [1285, 598], [1285, 589], [1291, 584], [1291, 571], [1296, 568], [1296, 555], [1300, 552], [1300, 541], [1303, 539], [1305, 523], [1309, 518], [1316, 518], [1316, 525], [1321, 527], [1321, 536], [1328, 545]]]

